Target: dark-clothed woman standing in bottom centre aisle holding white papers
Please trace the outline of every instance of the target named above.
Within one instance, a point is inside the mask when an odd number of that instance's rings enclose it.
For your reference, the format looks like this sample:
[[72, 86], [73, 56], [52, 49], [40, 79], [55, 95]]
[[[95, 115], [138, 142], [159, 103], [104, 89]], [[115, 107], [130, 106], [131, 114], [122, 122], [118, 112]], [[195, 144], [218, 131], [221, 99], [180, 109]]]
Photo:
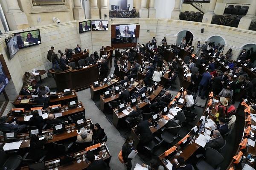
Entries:
[[128, 158], [132, 150], [135, 150], [137, 152], [137, 150], [133, 146], [133, 138], [131, 136], [127, 136], [125, 144], [122, 146], [122, 157], [124, 159], [125, 165], [127, 166], [127, 170], [131, 170], [132, 167], [132, 159]]

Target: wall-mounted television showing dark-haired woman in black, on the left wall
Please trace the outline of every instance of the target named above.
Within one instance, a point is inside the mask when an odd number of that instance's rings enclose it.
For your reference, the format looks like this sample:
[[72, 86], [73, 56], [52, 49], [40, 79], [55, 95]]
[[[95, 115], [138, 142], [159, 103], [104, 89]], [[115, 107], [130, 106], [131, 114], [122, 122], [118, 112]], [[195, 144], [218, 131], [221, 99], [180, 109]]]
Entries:
[[18, 33], [14, 33], [14, 35], [17, 35], [17, 44], [19, 49], [30, 47], [32, 45], [41, 44], [39, 29], [32, 30], [32, 31], [18, 32]]

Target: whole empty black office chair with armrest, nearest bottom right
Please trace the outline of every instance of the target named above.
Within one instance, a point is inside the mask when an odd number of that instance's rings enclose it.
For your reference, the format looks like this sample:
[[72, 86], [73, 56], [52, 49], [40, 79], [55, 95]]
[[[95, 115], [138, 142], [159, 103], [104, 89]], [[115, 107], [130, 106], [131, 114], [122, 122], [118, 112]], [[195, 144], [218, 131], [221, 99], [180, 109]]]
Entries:
[[205, 150], [205, 156], [203, 154], [196, 155], [197, 158], [202, 158], [196, 164], [198, 170], [221, 170], [218, 167], [224, 160], [224, 157], [217, 150], [207, 147]]

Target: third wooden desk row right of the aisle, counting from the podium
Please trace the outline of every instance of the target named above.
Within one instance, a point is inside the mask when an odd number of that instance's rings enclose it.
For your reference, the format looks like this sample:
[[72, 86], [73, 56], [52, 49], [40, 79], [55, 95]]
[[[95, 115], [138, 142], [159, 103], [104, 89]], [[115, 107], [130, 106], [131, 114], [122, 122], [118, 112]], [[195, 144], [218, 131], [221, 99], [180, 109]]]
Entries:
[[[162, 90], [163, 90], [163, 86], [158, 84], [157, 89], [154, 90], [149, 96], [147, 95], [148, 99], [150, 101], [153, 101], [160, 94]], [[137, 97], [137, 101], [140, 101], [140, 96]], [[138, 105], [140, 105], [140, 109], [143, 109], [146, 105], [148, 105], [148, 103], [142, 101], [142, 103], [138, 103]], [[129, 106], [131, 106], [131, 103], [126, 104], [126, 107], [129, 107]], [[136, 105], [132, 106], [131, 109], [136, 110]], [[132, 111], [131, 109], [128, 111]], [[118, 112], [118, 108], [113, 109], [113, 125], [115, 127], [118, 126], [119, 120], [125, 117], [127, 117], [126, 114], [122, 112]]]

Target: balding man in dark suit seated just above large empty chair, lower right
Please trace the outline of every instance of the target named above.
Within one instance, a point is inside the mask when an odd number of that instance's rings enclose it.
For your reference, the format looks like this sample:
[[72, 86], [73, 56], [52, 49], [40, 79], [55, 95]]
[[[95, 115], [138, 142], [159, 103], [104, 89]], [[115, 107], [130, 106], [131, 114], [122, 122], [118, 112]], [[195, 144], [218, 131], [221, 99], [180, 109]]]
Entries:
[[211, 147], [212, 149], [219, 150], [220, 147], [224, 145], [224, 139], [218, 130], [213, 131], [213, 135], [209, 142], [204, 146], [204, 148]]

